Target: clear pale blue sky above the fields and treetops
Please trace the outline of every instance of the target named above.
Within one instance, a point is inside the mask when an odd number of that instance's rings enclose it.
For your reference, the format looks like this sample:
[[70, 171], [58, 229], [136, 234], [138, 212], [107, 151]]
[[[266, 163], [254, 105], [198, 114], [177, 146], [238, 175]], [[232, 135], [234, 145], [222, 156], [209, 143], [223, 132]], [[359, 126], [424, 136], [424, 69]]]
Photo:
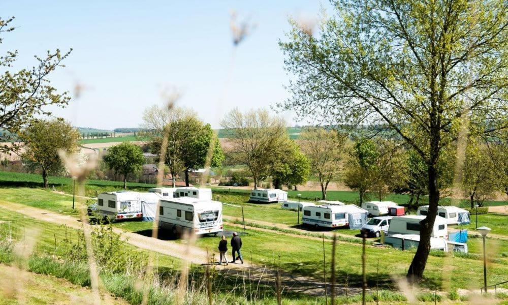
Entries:
[[[139, 127], [142, 113], [179, 90], [178, 105], [196, 110], [212, 128], [234, 107], [268, 108], [289, 98], [291, 75], [278, 47], [288, 18], [313, 19], [327, 0], [288, 1], [2, 1], [2, 18], [15, 16], [0, 54], [19, 51], [16, 67], [34, 55], [73, 48], [50, 79], [72, 101], [52, 109], [76, 127]], [[231, 12], [255, 28], [237, 47]], [[74, 96], [79, 84], [83, 90]], [[289, 125], [298, 122], [291, 111]]]

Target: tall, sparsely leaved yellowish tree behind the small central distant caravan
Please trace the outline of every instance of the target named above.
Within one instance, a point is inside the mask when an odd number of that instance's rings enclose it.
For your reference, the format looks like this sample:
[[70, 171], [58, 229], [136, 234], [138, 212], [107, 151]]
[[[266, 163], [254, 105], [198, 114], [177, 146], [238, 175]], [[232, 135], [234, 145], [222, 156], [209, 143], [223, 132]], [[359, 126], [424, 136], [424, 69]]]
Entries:
[[269, 173], [270, 164], [282, 143], [287, 139], [285, 121], [270, 116], [265, 109], [246, 113], [231, 110], [221, 122], [231, 142], [227, 155], [234, 161], [247, 166], [254, 189]]

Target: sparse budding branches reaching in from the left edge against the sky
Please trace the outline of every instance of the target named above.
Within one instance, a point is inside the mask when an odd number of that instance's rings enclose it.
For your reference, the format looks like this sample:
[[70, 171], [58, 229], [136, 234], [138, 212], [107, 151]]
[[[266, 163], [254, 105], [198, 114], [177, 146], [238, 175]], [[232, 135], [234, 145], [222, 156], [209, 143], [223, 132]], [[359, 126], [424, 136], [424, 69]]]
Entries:
[[[11, 26], [13, 19], [0, 18], [0, 34], [14, 31]], [[36, 66], [19, 71], [11, 71], [16, 66], [16, 50], [7, 51], [0, 57], [0, 67], [4, 70], [0, 75], [0, 130], [7, 131], [0, 134], [0, 142], [14, 141], [16, 134], [34, 117], [50, 115], [48, 106], [65, 107], [68, 104], [67, 93], [57, 93], [49, 84], [48, 76], [57, 67], [63, 67], [61, 62], [70, 52], [62, 54], [58, 49], [48, 51], [43, 57], [35, 56]], [[15, 144], [0, 144], [0, 151], [3, 152], [16, 148]]]

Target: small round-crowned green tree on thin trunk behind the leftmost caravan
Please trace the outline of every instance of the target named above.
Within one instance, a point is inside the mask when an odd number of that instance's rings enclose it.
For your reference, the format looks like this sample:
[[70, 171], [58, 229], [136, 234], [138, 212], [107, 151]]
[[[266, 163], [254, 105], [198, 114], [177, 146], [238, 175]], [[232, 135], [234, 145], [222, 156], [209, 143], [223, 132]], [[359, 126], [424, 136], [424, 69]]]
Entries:
[[123, 175], [123, 188], [126, 190], [127, 175], [141, 170], [145, 157], [141, 147], [131, 142], [123, 142], [108, 149], [104, 162], [115, 174]]

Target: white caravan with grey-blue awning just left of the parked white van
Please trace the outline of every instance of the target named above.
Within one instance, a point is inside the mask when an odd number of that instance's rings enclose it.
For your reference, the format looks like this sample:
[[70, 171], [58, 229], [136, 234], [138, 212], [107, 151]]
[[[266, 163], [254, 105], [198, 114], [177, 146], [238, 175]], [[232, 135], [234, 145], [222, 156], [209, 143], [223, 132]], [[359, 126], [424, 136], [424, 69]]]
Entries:
[[309, 205], [303, 208], [302, 223], [315, 227], [358, 229], [367, 222], [367, 211], [354, 205]]

